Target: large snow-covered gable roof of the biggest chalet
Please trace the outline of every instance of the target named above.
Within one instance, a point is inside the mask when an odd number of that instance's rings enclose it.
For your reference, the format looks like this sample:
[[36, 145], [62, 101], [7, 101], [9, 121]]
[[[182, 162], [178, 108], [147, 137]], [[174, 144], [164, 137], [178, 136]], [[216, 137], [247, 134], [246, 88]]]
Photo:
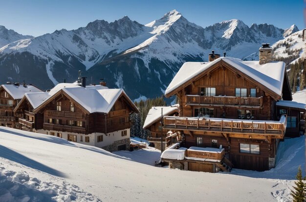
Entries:
[[272, 90], [278, 95], [282, 95], [284, 83], [284, 62], [270, 62], [263, 65], [259, 61], [242, 61], [237, 58], [220, 57], [213, 62], [186, 62], [176, 73], [172, 82], [165, 91], [168, 94], [180, 87], [190, 79], [194, 78], [204, 70], [212, 67], [214, 64], [224, 61], [227, 64], [240, 70], [242, 73], [250, 76], [258, 83]]

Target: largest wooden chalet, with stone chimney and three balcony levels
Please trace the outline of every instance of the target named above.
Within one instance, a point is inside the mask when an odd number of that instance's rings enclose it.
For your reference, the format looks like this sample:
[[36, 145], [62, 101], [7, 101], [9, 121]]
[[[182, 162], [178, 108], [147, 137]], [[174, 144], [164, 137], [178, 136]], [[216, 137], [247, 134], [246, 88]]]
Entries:
[[175, 155], [162, 160], [205, 172], [273, 168], [279, 141], [305, 133], [301, 112], [306, 108], [300, 103], [285, 111], [277, 104], [292, 104], [292, 96], [285, 64], [271, 60], [272, 48], [263, 44], [260, 61], [213, 52], [209, 62], [183, 64], [165, 92], [177, 96], [179, 117], [165, 116], [163, 129], [184, 134], [186, 150], [179, 160]]

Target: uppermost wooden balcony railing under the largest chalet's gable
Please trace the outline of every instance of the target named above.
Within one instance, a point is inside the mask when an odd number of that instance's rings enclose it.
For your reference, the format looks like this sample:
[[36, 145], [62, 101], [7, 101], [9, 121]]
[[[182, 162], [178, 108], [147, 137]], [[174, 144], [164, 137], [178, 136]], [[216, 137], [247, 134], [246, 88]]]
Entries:
[[187, 104], [262, 106], [262, 97], [186, 95]]

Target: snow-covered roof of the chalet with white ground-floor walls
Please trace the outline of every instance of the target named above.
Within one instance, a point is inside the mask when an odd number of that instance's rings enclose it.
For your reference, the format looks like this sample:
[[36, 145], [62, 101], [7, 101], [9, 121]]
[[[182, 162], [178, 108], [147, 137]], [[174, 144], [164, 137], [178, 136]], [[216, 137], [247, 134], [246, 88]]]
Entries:
[[47, 95], [48, 97], [34, 109], [34, 112], [43, 108], [45, 104], [51, 102], [61, 93], [74, 100], [88, 113], [108, 113], [121, 96], [126, 98], [133, 111], [139, 112], [138, 108], [133, 104], [123, 89], [109, 89], [104, 86], [87, 86], [86, 88], [83, 88], [72, 85], [62, 86], [62, 88], [58, 88], [57, 90], [50, 90]]

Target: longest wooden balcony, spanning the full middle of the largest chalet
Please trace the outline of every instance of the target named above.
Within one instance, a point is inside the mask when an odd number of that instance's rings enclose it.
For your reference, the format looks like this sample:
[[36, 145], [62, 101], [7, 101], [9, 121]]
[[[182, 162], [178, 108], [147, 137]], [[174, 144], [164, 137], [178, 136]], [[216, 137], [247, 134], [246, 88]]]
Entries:
[[283, 115], [280, 121], [262, 121], [165, 116], [163, 128], [247, 135], [277, 135], [279, 138], [283, 138], [286, 129], [286, 117]]

